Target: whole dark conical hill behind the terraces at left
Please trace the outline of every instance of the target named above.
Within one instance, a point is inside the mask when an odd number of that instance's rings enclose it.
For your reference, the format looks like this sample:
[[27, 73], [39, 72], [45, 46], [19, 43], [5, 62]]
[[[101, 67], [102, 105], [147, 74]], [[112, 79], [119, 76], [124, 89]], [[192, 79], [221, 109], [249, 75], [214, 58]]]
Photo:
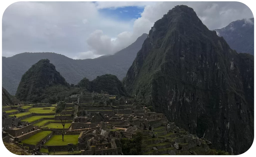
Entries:
[[41, 59], [22, 76], [16, 96], [27, 102], [56, 103], [70, 92], [73, 92], [71, 87], [49, 59]]

